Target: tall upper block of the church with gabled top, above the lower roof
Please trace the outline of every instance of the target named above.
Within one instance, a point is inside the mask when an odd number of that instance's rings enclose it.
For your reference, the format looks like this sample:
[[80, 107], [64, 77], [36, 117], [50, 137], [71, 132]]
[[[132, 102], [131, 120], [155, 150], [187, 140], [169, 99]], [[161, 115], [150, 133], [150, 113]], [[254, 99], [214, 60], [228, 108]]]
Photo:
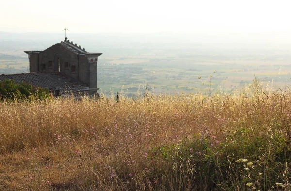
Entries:
[[29, 57], [30, 73], [60, 72], [90, 89], [97, 88], [97, 61], [102, 53], [89, 53], [67, 40], [44, 51], [24, 51]]

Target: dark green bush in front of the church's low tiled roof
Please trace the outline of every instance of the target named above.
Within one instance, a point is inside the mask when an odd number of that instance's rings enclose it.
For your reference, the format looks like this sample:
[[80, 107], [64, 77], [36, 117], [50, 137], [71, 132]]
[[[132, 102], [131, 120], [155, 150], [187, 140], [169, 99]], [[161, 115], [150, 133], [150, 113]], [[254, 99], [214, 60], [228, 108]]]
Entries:
[[26, 82], [16, 84], [14, 80], [5, 79], [0, 82], [0, 101], [15, 101], [35, 99], [42, 100], [50, 97], [49, 89], [33, 87]]

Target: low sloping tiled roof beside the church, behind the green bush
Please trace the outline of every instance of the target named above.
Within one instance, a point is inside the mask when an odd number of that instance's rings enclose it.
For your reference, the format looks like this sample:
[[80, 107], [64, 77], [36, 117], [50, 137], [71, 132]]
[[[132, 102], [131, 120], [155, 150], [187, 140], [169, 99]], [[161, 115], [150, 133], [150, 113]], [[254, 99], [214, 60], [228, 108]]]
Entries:
[[48, 88], [49, 90], [79, 91], [89, 89], [88, 85], [78, 82], [77, 80], [67, 77], [59, 72], [37, 72], [21, 73], [11, 75], [0, 75], [0, 81], [4, 79], [15, 80], [16, 83], [27, 82], [33, 86]]

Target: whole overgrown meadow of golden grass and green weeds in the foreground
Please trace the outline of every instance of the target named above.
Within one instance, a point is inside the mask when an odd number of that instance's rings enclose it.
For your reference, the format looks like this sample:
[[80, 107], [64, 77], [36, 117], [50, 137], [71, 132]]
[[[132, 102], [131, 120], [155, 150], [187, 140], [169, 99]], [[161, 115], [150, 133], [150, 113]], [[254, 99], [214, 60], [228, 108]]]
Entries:
[[0, 103], [0, 190], [291, 189], [291, 92]]

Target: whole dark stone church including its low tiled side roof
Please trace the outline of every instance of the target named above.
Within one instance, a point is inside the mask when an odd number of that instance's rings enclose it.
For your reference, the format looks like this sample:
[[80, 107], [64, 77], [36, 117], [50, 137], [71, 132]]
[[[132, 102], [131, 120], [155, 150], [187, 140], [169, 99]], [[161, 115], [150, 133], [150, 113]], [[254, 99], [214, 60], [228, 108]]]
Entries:
[[68, 91], [97, 92], [97, 61], [102, 53], [89, 53], [67, 38], [43, 51], [24, 52], [28, 54], [30, 73], [2, 74], [0, 81], [25, 81], [37, 87], [49, 88], [56, 95]]

